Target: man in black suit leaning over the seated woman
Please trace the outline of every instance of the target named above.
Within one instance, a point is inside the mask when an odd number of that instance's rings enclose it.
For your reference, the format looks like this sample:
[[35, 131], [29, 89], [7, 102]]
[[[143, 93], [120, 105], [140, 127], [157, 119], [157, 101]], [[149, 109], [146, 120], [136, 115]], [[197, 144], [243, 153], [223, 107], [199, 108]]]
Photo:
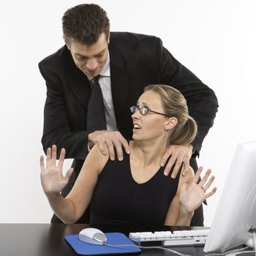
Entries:
[[[190, 165], [197, 170], [195, 157], [217, 113], [214, 92], [174, 59], [162, 46], [161, 39], [110, 32], [108, 16], [97, 4], [80, 4], [67, 10], [62, 27], [64, 47], [39, 63], [47, 86], [43, 148], [46, 151], [56, 144], [59, 149], [66, 148], [67, 158], [75, 159], [72, 165], [75, 175], [62, 195], [69, 192], [89, 148], [95, 143], [99, 144], [102, 154], [105, 154], [104, 143], [108, 146], [110, 159], [115, 158], [116, 152], [122, 160], [122, 147], [129, 154], [126, 140], [132, 136], [129, 107], [135, 105], [143, 88], [152, 83], [164, 83], [181, 91], [198, 126], [193, 145], [170, 146], [159, 164], [167, 162], [165, 175], [174, 166], [172, 177], [175, 177], [182, 164], [188, 169], [192, 156]], [[91, 100], [97, 85], [102, 92], [99, 90], [99, 98]], [[100, 111], [102, 101], [104, 107]], [[93, 113], [94, 109], [98, 112]], [[100, 118], [96, 125], [104, 120], [107, 131], [91, 128], [89, 119], [97, 115]], [[89, 213], [86, 214], [79, 222], [89, 221]], [[52, 222], [57, 221], [53, 217]], [[202, 206], [195, 212], [192, 225], [203, 225]]]

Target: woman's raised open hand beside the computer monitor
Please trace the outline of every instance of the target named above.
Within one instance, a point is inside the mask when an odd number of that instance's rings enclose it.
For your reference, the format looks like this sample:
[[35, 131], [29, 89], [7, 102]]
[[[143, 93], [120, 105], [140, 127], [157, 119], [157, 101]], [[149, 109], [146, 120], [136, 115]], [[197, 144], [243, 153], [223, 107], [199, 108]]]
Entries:
[[197, 209], [201, 203], [203, 203], [206, 198], [214, 195], [217, 188], [211, 189], [210, 192], [207, 192], [211, 184], [214, 182], [214, 176], [210, 177], [211, 170], [207, 170], [206, 174], [203, 176], [201, 181], [197, 184], [200, 174], [202, 173], [203, 167], [199, 167], [197, 172], [195, 173], [195, 177], [192, 178], [188, 176], [184, 179], [184, 184], [181, 187], [180, 193], [180, 203], [184, 209], [192, 213]]

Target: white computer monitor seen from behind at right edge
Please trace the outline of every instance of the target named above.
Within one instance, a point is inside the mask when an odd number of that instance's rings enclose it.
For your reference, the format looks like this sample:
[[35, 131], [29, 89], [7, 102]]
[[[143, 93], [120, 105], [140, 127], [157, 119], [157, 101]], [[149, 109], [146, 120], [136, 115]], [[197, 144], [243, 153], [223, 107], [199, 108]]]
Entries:
[[204, 252], [253, 247], [256, 228], [256, 141], [239, 143], [219, 199]]

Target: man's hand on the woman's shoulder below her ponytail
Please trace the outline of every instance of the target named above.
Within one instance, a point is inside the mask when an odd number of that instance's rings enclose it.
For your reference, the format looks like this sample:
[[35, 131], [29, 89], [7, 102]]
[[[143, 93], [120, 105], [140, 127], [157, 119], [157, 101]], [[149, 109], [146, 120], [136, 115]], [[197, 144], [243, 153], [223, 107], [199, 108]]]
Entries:
[[176, 178], [178, 174], [178, 170], [180, 169], [182, 163], [184, 163], [184, 171], [181, 174], [185, 176], [189, 170], [189, 159], [192, 156], [192, 150], [193, 150], [192, 145], [168, 146], [160, 162], [160, 165], [164, 166], [168, 157], [170, 157], [171, 155], [169, 161], [167, 162], [167, 165], [165, 166], [165, 171], [164, 171], [165, 176], [169, 175], [171, 168], [175, 164], [171, 177]]

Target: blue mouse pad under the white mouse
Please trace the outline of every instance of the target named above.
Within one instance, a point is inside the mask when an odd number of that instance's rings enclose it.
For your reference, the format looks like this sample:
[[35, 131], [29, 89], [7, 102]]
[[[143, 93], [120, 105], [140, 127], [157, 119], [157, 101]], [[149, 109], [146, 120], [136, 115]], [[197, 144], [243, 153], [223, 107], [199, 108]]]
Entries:
[[[123, 233], [105, 233], [107, 244], [122, 245], [134, 243]], [[65, 240], [78, 255], [124, 255], [140, 253], [141, 249], [136, 246], [112, 247], [108, 245], [88, 244], [78, 239], [78, 235], [65, 236]]]

